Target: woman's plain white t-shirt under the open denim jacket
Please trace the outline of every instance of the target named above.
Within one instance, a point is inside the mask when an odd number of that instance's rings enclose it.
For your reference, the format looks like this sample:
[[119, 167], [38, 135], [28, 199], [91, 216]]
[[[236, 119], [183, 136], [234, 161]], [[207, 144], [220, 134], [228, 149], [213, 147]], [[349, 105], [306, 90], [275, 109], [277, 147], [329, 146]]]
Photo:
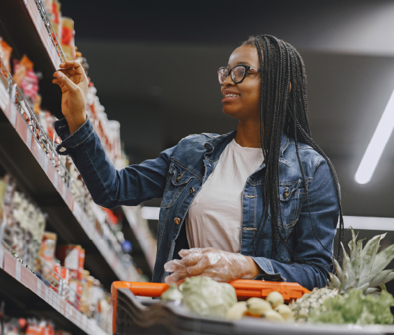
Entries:
[[263, 162], [261, 148], [245, 148], [234, 139], [226, 146], [186, 217], [190, 248], [240, 252], [243, 188]]

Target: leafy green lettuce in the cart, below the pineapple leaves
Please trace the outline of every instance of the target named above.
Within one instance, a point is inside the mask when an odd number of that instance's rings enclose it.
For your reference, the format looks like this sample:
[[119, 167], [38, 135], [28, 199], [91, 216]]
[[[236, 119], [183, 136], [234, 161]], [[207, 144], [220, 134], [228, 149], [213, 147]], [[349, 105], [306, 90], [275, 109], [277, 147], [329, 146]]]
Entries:
[[344, 295], [326, 299], [319, 309], [312, 311], [308, 321], [391, 325], [394, 322], [391, 306], [394, 306], [394, 297], [385, 290], [379, 295], [364, 295], [363, 290], [352, 289]]

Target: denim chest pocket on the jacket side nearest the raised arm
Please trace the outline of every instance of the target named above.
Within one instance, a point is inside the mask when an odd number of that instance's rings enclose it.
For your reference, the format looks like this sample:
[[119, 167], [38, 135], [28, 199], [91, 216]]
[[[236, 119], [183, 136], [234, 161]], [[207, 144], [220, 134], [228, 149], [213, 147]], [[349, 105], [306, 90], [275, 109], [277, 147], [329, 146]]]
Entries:
[[195, 176], [187, 169], [179, 166], [176, 163], [171, 163], [169, 165], [167, 183], [162, 196], [162, 203], [160, 207], [172, 207], [185, 188], [188, 187], [190, 181], [194, 178]]

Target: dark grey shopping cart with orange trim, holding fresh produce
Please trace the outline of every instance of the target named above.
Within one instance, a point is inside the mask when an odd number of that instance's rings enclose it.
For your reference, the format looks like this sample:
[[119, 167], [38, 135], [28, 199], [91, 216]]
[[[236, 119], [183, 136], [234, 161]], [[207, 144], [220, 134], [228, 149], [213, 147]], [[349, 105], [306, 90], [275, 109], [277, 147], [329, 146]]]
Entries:
[[[237, 280], [230, 283], [238, 300], [265, 298], [272, 291], [280, 292], [285, 302], [302, 297], [309, 291], [298, 283]], [[112, 283], [114, 335], [353, 335], [394, 334], [393, 326], [349, 325], [286, 325], [262, 318], [246, 317], [239, 321], [204, 318], [185, 309], [180, 302], [162, 302], [160, 297], [169, 288], [164, 283], [115, 281]]]

